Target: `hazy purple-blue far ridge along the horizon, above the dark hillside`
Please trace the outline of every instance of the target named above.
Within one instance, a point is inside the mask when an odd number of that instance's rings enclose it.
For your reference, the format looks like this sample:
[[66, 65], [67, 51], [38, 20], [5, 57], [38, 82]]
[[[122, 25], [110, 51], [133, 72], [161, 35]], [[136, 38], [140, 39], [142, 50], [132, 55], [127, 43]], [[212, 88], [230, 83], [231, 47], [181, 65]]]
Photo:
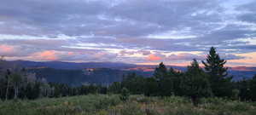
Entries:
[[[17, 65], [29, 68], [49, 67], [55, 69], [77, 70], [84, 68], [112, 68], [126, 71], [154, 72], [156, 66], [135, 65], [119, 62], [64, 62], [64, 61], [30, 61], [30, 60], [12, 60], [9, 61]], [[171, 66], [167, 66], [171, 67]], [[172, 66], [175, 69], [185, 71], [185, 66]]]

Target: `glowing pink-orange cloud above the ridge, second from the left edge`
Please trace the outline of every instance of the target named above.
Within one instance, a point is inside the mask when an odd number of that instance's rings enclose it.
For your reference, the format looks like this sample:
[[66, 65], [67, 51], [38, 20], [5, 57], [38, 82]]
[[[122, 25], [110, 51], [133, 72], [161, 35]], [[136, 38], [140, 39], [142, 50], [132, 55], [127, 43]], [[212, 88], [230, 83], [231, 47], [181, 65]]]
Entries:
[[39, 60], [58, 60], [57, 52], [55, 50], [46, 50], [34, 54], [35, 58]]

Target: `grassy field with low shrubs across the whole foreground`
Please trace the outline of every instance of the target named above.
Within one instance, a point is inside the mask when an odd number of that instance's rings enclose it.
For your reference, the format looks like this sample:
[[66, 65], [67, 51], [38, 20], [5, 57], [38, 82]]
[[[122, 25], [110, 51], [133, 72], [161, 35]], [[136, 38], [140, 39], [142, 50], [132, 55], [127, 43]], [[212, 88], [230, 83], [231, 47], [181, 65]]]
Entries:
[[36, 101], [1, 101], [0, 115], [256, 115], [256, 103], [201, 99], [198, 106], [183, 97], [81, 95]]

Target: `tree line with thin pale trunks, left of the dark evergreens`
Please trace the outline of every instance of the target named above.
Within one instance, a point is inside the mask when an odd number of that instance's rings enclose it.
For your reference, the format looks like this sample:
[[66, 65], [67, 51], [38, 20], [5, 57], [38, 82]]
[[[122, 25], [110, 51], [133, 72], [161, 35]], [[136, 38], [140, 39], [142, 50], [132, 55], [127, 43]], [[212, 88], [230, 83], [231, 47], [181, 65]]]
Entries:
[[96, 84], [72, 87], [65, 83], [48, 83], [26, 68], [0, 58], [0, 99], [3, 101], [106, 93], [107, 87]]

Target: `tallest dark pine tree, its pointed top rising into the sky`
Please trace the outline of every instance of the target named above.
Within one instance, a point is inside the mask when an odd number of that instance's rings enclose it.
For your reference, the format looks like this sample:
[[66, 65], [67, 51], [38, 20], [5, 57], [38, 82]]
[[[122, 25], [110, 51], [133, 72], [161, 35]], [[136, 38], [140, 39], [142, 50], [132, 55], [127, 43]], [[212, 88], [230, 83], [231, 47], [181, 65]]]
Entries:
[[231, 77], [228, 76], [228, 68], [224, 67], [227, 61], [220, 59], [216, 49], [212, 47], [207, 55], [207, 61], [202, 61], [205, 71], [210, 76], [212, 92], [216, 96], [232, 95]]

